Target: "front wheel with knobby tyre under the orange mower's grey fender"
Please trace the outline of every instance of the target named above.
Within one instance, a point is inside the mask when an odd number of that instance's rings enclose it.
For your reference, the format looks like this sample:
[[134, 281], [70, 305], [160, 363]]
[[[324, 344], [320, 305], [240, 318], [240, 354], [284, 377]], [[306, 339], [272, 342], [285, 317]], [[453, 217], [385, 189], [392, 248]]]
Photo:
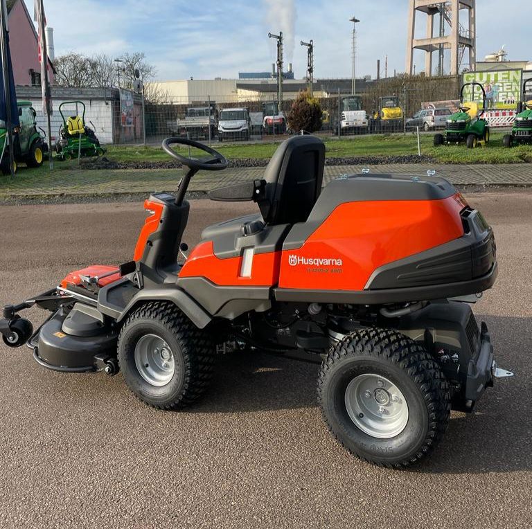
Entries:
[[170, 302], [150, 302], [130, 314], [118, 337], [118, 362], [140, 400], [182, 408], [206, 390], [215, 361], [208, 334]]

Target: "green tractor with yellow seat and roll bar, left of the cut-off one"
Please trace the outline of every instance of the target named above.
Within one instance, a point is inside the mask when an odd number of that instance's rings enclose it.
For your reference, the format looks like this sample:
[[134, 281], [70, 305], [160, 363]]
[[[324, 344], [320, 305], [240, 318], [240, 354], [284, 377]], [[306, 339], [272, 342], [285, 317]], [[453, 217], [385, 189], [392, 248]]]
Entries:
[[[482, 91], [482, 109], [475, 101], [464, 102], [463, 91], [465, 87], [471, 87], [471, 97], [473, 97], [473, 86], [477, 85]], [[460, 91], [460, 111], [452, 114], [445, 122], [445, 133], [434, 136], [434, 147], [439, 145], [450, 145], [451, 143], [465, 143], [468, 149], [474, 149], [478, 145], [485, 146], [490, 141], [490, 125], [482, 117], [486, 109], [486, 91], [479, 82], [463, 84]]]

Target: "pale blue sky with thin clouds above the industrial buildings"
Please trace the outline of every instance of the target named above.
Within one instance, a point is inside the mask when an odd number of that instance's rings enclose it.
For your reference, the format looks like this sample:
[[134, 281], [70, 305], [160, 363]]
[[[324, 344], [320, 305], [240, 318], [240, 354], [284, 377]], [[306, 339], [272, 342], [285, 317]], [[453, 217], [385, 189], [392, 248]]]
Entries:
[[[33, 0], [24, 0], [33, 15]], [[68, 4], [68, 5], [67, 5]], [[504, 10], [502, 6], [504, 5]], [[306, 70], [314, 40], [314, 78], [351, 77], [351, 31], [357, 24], [357, 77], [372, 75], [388, 55], [388, 72], [405, 70], [408, 0], [44, 0], [54, 28], [55, 55], [76, 51], [118, 57], [140, 51], [157, 80], [235, 78], [269, 71], [276, 47], [268, 32], [285, 35], [285, 64]], [[477, 57], [503, 44], [511, 60], [532, 60], [529, 24], [518, 24], [526, 0], [477, 1]], [[418, 33], [425, 22], [418, 23]], [[436, 57], [434, 57], [436, 60]], [[416, 53], [418, 71], [423, 55]]]

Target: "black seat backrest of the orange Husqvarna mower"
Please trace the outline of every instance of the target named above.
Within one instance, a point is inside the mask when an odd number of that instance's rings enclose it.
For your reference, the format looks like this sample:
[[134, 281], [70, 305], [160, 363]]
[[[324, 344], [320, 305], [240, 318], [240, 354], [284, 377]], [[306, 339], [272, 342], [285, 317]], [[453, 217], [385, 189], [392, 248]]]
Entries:
[[283, 141], [264, 173], [265, 195], [258, 200], [266, 224], [305, 222], [321, 192], [325, 145], [316, 136]]

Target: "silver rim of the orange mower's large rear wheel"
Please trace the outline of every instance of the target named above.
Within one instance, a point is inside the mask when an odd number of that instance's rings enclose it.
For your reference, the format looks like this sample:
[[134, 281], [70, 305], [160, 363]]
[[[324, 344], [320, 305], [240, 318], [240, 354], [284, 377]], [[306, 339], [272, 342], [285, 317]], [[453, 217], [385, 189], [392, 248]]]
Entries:
[[345, 404], [351, 420], [369, 436], [389, 439], [407, 426], [405, 395], [380, 375], [365, 373], [351, 380], [346, 388]]

